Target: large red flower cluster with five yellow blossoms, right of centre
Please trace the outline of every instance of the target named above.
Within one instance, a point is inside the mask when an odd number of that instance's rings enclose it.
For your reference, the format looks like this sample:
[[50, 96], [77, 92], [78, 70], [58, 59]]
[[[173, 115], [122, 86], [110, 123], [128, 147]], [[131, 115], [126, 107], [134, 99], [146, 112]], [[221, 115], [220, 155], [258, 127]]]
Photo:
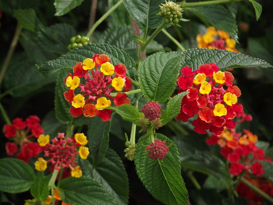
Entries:
[[220, 71], [214, 63], [200, 65], [195, 71], [191, 67], [183, 67], [181, 72], [183, 74], [177, 80], [177, 87], [181, 89], [178, 92], [189, 93], [182, 99], [177, 120], [186, 122], [197, 114], [192, 123], [197, 133], [206, 134], [209, 129], [214, 135], [219, 135], [224, 127], [235, 127], [235, 117], [247, 116], [243, 106], [238, 104], [237, 97], [241, 91], [233, 86], [234, 77], [230, 72]]

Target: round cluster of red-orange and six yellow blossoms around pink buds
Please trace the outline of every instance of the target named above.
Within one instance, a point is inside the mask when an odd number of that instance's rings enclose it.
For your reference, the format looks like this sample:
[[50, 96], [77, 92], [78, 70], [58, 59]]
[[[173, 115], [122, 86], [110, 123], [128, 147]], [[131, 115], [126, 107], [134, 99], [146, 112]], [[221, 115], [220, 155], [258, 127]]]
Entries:
[[[80, 77], [84, 78], [82, 83]], [[114, 90], [131, 90], [132, 81], [126, 76], [124, 64], [112, 65], [109, 56], [104, 54], [95, 54], [92, 58], [83, 60], [83, 63], [77, 63], [73, 74], [69, 73], [64, 83], [69, 88], [64, 96], [72, 104], [69, 112], [73, 117], [84, 114], [85, 117], [98, 116], [102, 121], [109, 121], [112, 110], [104, 108], [111, 106], [111, 100], [115, 106], [131, 102], [125, 93], [119, 92], [116, 97], [110, 96]], [[82, 94], [75, 94], [77, 87]]]

